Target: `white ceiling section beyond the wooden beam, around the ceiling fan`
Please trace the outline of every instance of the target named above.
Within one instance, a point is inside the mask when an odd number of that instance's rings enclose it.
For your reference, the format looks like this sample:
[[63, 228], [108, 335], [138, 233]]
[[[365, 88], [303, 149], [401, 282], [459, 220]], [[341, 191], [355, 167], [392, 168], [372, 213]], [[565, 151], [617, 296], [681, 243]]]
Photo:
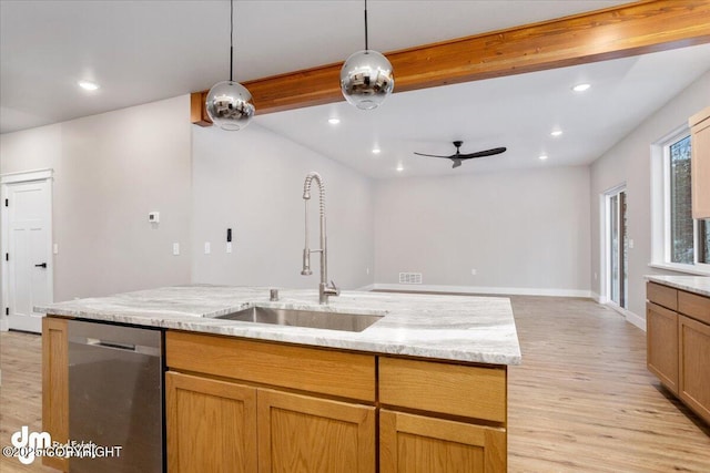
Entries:
[[[584, 165], [708, 70], [710, 44], [703, 44], [393, 94], [374, 111], [334, 103], [256, 116], [254, 122], [377, 178]], [[591, 89], [572, 92], [581, 82]], [[699, 103], [698, 110], [706, 105]], [[328, 124], [331, 116], [341, 123]], [[562, 135], [550, 136], [554, 130]], [[498, 146], [508, 151], [465, 161], [456, 169], [448, 160], [413, 154], [450, 155], [454, 140], [464, 141], [462, 153]], [[381, 153], [373, 154], [374, 147]], [[548, 156], [544, 162], [542, 154]]]

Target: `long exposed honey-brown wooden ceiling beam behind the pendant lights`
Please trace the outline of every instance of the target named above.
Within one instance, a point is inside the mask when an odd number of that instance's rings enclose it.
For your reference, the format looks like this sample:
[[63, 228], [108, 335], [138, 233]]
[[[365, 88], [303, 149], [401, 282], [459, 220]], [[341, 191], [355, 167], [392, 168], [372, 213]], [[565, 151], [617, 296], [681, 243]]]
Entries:
[[[586, 64], [710, 42], [710, 0], [643, 0], [556, 20], [386, 53], [395, 93]], [[344, 100], [343, 63], [243, 84], [258, 114]], [[192, 123], [209, 126], [204, 100], [191, 97]]]

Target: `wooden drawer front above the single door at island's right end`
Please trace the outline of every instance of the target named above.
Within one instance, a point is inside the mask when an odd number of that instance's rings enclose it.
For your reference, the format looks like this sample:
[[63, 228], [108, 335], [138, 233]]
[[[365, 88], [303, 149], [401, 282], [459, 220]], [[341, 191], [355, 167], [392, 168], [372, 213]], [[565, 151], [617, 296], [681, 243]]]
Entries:
[[379, 402], [506, 422], [507, 370], [379, 358]]

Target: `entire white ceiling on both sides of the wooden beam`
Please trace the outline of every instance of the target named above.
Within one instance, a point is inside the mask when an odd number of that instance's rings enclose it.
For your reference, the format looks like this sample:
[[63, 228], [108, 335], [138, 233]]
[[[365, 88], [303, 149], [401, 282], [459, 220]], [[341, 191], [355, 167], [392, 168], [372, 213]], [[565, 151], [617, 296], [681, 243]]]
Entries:
[[[369, 0], [381, 51], [559, 18], [628, 0]], [[343, 61], [363, 48], [362, 0], [235, 2], [235, 79]], [[258, 115], [262, 125], [374, 177], [453, 173], [448, 154], [508, 146], [455, 172], [587, 163], [710, 68], [707, 47], [394, 94], [378, 110], [345, 103]], [[229, 75], [229, 1], [0, 0], [0, 132], [205, 90]], [[396, 76], [396, 71], [395, 71]], [[575, 96], [571, 83], [594, 88]], [[87, 93], [81, 79], [101, 89]], [[343, 122], [328, 127], [325, 119]], [[565, 135], [549, 137], [552, 126]], [[244, 132], [248, 132], [248, 128]], [[241, 132], [240, 132], [241, 133]], [[383, 148], [373, 157], [372, 143]], [[532, 157], [532, 163], [530, 162]]]

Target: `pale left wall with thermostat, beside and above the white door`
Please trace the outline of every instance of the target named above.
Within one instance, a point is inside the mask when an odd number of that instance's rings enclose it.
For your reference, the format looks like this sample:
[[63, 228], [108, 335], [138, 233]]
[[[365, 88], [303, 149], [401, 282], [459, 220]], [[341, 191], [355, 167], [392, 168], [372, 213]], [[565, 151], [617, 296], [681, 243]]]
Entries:
[[184, 95], [0, 135], [0, 173], [54, 169], [55, 301], [190, 281], [189, 116]]

